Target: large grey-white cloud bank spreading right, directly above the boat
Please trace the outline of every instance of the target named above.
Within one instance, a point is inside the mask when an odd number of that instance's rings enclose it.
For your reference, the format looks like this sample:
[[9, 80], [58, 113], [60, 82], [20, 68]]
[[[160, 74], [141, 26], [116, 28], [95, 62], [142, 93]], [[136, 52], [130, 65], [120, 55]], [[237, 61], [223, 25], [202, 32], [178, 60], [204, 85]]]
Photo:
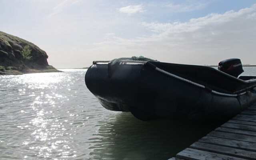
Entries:
[[120, 53], [148, 57], [161, 54], [159, 60], [190, 64], [217, 64], [222, 59], [241, 57], [246, 63], [255, 64], [256, 54], [252, 53], [256, 43], [256, 5], [187, 22], [142, 22], [140, 25], [152, 34], [131, 39], [114, 36], [107, 42], [94, 43], [91, 52], [100, 54], [102, 50], [109, 50], [112, 58]]

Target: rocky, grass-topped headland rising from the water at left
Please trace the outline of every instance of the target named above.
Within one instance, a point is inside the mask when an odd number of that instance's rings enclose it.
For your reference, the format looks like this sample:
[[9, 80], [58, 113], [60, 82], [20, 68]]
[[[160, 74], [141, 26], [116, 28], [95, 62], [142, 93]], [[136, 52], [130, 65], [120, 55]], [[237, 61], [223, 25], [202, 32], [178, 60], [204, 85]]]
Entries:
[[[28, 45], [32, 56], [26, 60], [22, 56], [24, 46]], [[22, 74], [35, 72], [58, 72], [47, 62], [48, 55], [35, 44], [0, 32], [0, 74]]]

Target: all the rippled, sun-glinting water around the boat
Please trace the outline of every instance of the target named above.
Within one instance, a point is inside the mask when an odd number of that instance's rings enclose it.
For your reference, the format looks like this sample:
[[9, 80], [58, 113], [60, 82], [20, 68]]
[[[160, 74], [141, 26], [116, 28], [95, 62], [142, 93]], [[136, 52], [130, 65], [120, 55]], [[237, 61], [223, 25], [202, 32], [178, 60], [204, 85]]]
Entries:
[[63, 71], [0, 76], [0, 159], [167, 160], [219, 125], [106, 110], [86, 88], [86, 70]]

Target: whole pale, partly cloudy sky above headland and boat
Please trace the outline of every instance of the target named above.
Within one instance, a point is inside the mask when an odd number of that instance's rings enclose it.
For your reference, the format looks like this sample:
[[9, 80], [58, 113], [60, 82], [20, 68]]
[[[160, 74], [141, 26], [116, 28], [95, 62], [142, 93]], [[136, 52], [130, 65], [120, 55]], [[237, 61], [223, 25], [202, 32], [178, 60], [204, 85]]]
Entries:
[[256, 64], [255, 0], [0, 0], [0, 31], [55, 68], [144, 56], [168, 63]]

